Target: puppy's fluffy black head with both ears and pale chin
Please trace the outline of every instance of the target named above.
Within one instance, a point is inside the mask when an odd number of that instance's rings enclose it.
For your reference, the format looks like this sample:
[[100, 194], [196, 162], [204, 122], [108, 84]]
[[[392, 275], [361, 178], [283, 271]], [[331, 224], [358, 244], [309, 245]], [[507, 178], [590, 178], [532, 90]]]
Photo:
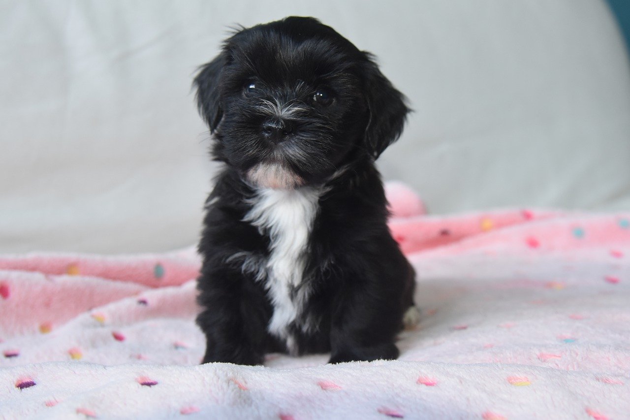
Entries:
[[235, 33], [195, 85], [215, 158], [256, 187], [318, 184], [375, 159], [408, 112], [372, 56], [314, 18]]

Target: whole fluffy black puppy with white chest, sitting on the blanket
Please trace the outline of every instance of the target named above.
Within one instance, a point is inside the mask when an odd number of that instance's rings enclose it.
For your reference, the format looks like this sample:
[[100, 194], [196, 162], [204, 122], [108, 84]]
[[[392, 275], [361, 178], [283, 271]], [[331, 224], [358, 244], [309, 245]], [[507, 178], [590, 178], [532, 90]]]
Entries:
[[370, 54], [299, 17], [234, 33], [195, 85], [224, 163], [199, 244], [203, 363], [397, 358], [415, 279], [374, 160], [403, 129], [403, 95]]

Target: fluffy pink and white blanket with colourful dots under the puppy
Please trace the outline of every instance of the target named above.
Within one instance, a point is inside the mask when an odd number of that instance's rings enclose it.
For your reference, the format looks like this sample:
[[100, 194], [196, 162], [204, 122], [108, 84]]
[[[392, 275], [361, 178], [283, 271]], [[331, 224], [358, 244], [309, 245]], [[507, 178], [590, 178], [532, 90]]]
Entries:
[[194, 248], [0, 256], [0, 417], [630, 418], [630, 213], [427, 216], [387, 189], [422, 317], [396, 361], [198, 365]]

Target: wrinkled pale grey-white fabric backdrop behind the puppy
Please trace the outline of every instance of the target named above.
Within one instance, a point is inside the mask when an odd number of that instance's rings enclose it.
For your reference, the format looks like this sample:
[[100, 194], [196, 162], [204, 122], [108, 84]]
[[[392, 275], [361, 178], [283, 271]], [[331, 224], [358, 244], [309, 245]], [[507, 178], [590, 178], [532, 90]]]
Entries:
[[3, 1], [0, 252], [197, 241], [215, 164], [190, 84], [228, 27], [310, 15], [415, 113], [382, 156], [432, 213], [630, 208], [630, 71], [603, 1]]

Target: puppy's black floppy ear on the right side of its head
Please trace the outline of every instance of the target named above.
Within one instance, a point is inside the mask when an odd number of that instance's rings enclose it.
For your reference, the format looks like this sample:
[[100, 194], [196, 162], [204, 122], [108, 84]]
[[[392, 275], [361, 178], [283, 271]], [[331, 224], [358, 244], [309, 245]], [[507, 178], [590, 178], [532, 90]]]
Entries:
[[394, 143], [403, 131], [410, 109], [406, 98], [379, 70], [374, 56], [364, 52], [367, 61], [362, 69], [369, 120], [365, 129], [365, 147], [374, 158]]

